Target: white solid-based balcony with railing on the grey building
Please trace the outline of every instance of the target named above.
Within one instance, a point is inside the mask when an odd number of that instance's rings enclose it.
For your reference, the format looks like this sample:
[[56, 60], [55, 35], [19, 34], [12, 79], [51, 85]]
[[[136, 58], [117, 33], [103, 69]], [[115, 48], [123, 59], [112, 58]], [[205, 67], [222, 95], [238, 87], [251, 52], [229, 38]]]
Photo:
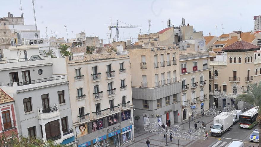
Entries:
[[57, 104], [50, 108], [38, 108], [38, 119], [50, 119], [57, 116], [60, 116]]

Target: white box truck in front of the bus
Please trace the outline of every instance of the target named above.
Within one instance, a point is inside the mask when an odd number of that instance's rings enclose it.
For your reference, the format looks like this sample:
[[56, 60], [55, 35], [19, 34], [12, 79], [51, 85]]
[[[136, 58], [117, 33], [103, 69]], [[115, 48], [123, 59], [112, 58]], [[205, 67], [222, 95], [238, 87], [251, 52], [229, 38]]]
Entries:
[[210, 135], [222, 135], [226, 131], [230, 130], [230, 127], [233, 127], [233, 113], [222, 112], [213, 120], [213, 126], [210, 127]]

